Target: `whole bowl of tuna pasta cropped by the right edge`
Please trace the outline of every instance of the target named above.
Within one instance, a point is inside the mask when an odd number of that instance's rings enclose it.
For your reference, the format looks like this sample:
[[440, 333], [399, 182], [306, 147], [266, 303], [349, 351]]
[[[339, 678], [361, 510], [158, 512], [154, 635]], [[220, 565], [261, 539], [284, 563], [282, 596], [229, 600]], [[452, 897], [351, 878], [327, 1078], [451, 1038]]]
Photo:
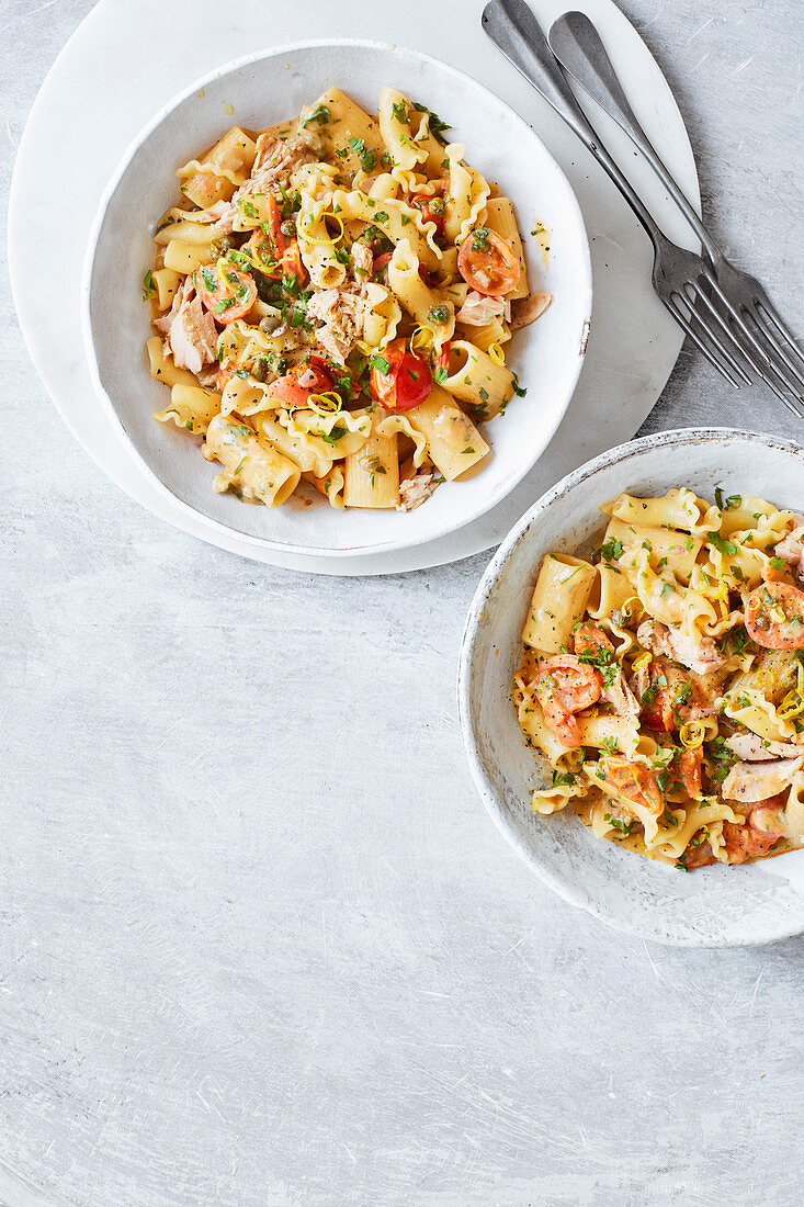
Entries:
[[535, 505], [473, 601], [480, 794], [557, 892], [631, 933], [804, 929], [802, 455], [717, 428], [613, 449]]

